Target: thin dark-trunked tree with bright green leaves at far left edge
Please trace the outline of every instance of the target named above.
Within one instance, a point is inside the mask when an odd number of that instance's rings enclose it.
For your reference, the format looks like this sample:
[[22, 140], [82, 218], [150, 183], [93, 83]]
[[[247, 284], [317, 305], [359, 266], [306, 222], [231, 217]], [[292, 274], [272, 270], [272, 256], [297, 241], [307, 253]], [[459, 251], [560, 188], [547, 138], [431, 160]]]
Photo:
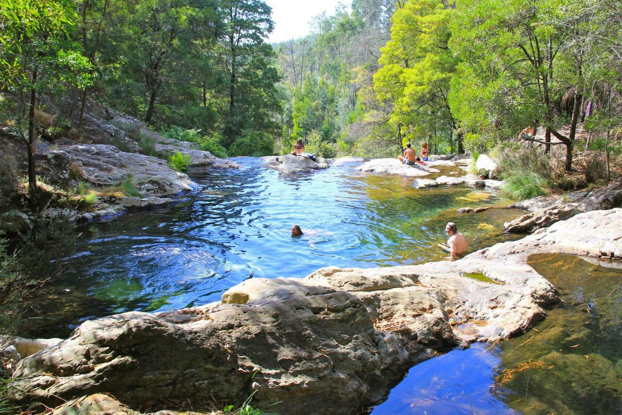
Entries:
[[16, 132], [27, 146], [32, 204], [37, 203], [37, 95], [61, 92], [67, 83], [80, 88], [91, 83], [90, 62], [81, 55], [79, 45], [68, 39], [77, 19], [73, 6], [63, 0], [0, 0], [0, 84], [16, 95], [29, 95], [21, 105]]

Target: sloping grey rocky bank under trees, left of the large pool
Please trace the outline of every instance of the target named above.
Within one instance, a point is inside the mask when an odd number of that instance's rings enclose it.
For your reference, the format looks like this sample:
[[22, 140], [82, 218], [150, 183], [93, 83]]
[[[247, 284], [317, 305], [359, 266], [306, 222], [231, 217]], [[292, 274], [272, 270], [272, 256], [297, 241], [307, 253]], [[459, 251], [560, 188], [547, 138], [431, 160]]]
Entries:
[[[52, 103], [49, 105], [53, 107]], [[40, 111], [37, 118], [44, 125], [53, 120]], [[20, 193], [17, 178], [26, 175], [26, 147], [9, 128], [0, 126], [0, 150], [6, 161], [0, 190], [4, 199], [14, 201]], [[239, 168], [231, 160], [198, 150], [194, 143], [167, 138], [136, 118], [89, 102], [80, 128], [68, 128], [37, 143], [37, 174], [45, 183], [42, 190], [47, 201], [44, 216], [64, 216], [83, 222], [174, 203], [169, 196], [197, 187], [187, 174], [170, 167], [167, 158], [177, 151], [188, 156], [190, 167]], [[114, 189], [128, 179], [134, 190], [131, 195]], [[103, 189], [103, 195], [99, 194], [95, 203], [87, 207], [71, 203], [78, 184], [96, 192]], [[64, 199], [65, 203], [57, 199]], [[29, 226], [29, 212], [9, 210], [0, 214], [0, 219], [0, 229], [9, 233]]]

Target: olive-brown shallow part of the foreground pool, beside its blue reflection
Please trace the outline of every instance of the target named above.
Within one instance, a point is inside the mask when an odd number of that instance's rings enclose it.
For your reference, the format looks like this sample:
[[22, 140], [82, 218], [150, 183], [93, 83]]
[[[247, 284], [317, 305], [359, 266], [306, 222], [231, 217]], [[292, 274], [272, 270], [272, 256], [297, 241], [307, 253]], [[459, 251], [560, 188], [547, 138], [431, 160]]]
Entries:
[[503, 399], [524, 413], [621, 413], [619, 262], [538, 254], [529, 265], [555, 285], [563, 301], [547, 310], [537, 331], [499, 343], [499, 393], [513, 391]]

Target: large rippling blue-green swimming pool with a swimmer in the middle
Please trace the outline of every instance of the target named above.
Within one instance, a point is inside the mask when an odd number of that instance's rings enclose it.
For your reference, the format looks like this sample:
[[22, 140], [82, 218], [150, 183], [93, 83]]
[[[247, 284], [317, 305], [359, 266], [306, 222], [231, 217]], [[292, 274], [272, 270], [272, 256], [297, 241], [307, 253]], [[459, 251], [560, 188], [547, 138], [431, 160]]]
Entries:
[[[519, 237], [502, 231], [519, 211], [455, 212], [509, 203], [497, 193], [415, 189], [413, 178], [361, 173], [357, 163], [284, 176], [258, 159], [239, 161], [238, 170], [192, 171], [199, 188], [179, 204], [81, 227], [78, 254], [32, 302], [21, 334], [63, 337], [90, 318], [203, 305], [253, 276], [443, 259], [436, 244], [446, 241], [448, 221], [457, 222], [470, 250]], [[442, 173], [460, 173], [453, 170]], [[304, 237], [290, 236], [293, 224]]]

